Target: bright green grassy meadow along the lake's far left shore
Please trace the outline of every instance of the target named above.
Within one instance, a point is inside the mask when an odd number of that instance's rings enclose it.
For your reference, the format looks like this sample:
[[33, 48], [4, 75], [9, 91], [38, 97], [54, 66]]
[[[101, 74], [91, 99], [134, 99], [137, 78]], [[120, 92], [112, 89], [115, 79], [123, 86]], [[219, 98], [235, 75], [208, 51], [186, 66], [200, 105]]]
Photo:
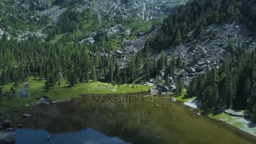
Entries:
[[[30, 83], [28, 89], [28, 99], [20, 99], [18, 97], [13, 97], [8, 100], [8, 97], [5, 96], [3, 98], [2, 106], [0, 107], [1, 111], [7, 111], [7, 109], [11, 109], [12, 107], [20, 107], [24, 108], [25, 104], [29, 104], [30, 106], [35, 105], [38, 102], [39, 98], [44, 96], [50, 100], [68, 100], [69, 98], [77, 98], [82, 96], [83, 94], [125, 94], [125, 93], [136, 93], [148, 91], [150, 86], [144, 85], [111, 85], [109, 83], [101, 83], [96, 81], [90, 81], [89, 83], [78, 83], [75, 87], [69, 86], [67, 80], [61, 81], [61, 87], [56, 84], [54, 88], [51, 88], [49, 91], [45, 91], [45, 81], [41, 82], [38, 80], [33, 80], [30, 78], [28, 82]], [[5, 85], [3, 88], [3, 93], [10, 92], [11, 87], [14, 83], [9, 85]], [[19, 84], [19, 88], [21, 88], [24, 83]], [[19, 91], [19, 88], [16, 88], [16, 93]]]

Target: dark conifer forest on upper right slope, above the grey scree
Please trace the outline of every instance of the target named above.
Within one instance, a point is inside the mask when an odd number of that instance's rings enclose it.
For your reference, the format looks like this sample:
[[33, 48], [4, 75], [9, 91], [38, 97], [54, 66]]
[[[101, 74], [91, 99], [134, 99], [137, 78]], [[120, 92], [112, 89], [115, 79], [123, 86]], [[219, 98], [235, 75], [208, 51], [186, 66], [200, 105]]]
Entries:
[[204, 27], [239, 18], [256, 30], [256, 17], [248, 11], [255, 0], [193, 0], [176, 8], [163, 21], [158, 34], [146, 41], [144, 51], [160, 52], [171, 45], [193, 41], [205, 35]]

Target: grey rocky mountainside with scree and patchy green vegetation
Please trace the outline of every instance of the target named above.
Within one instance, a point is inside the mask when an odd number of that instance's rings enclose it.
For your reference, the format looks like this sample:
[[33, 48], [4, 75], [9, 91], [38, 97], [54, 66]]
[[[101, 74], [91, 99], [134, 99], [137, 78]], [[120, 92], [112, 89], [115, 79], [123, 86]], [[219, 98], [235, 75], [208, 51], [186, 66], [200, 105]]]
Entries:
[[[102, 51], [90, 51], [91, 55], [98, 53], [101, 57], [117, 56], [118, 63], [123, 68], [130, 56], [144, 48], [149, 37], [157, 35], [162, 19], [172, 13], [178, 5], [188, 0], [0, 0], [0, 38], [7, 37], [19, 41], [29, 40], [31, 37], [62, 45], [77, 43], [77, 45], [95, 45]], [[61, 32], [49, 39], [49, 31], [56, 29], [60, 17], [67, 10], [90, 11], [99, 18], [99, 26], [92, 29], [77, 29], [74, 32]], [[248, 15], [255, 15], [255, 8], [248, 5], [252, 11]], [[14, 21], [16, 24], [13, 24]], [[18, 22], [17, 22], [18, 21]], [[128, 21], [128, 22], [127, 22]], [[22, 26], [21, 26], [22, 25]], [[58, 26], [57, 26], [58, 27]], [[184, 69], [179, 69], [171, 75], [173, 82], [181, 78], [185, 85], [195, 75], [205, 72], [211, 67], [218, 67], [219, 63], [229, 53], [225, 50], [230, 37], [235, 40], [242, 37], [248, 50], [256, 46], [255, 37], [251, 30], [237, 20], [229, 24], [212, 24], [205, 29], [206, 33], [216, 32], [216, 37], [210, 39], [204, 35], [195, 44], [195, 49], [189, 51], [192, 42], [172, 46], [165, 50], [171, 59], [181, 56], [186, 62]], [[71, 37], [71, 38], [70, 38]], [[101, 43], [102, 37], [108, 37], [114, 48], [105, 51]], [[150, 53], [152, 57], [159, 53]], [[164, 77], [164, 75], [162, 75]], [[147, 83], [147, 81], [144, 81]]]

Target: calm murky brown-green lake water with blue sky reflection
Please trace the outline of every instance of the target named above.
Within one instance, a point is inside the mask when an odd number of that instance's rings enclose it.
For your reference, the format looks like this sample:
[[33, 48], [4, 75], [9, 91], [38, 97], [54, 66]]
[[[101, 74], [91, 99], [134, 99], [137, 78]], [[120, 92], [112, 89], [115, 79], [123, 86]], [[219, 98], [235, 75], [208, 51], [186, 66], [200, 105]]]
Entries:
[[112, 101], [102, 105], [82, 97], [39, 105], [27, 111], [32, 115], [27, 119], [21, 117], [24, 112], [13, 113], [15, 125], [21, 123], [30, 129], [16, 130], [16, 144], [256, 143], [255, 136], [227, 123], [197, 116], [196, 111], [178, 101], [149, 99], [151, 102]]

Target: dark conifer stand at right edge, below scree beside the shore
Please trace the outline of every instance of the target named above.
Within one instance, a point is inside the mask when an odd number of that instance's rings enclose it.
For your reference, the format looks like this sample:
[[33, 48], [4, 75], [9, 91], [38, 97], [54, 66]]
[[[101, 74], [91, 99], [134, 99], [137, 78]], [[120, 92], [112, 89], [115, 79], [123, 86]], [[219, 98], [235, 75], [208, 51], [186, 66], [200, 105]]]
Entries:
[[229, 40], [227, 50], [230, 55], [219, 68], [193, 78], [187, 95], [201, 99], [205, 110], [245, 108], [256, 118], [256, 51], [245, 51], [241, 38], [236, 45]]

